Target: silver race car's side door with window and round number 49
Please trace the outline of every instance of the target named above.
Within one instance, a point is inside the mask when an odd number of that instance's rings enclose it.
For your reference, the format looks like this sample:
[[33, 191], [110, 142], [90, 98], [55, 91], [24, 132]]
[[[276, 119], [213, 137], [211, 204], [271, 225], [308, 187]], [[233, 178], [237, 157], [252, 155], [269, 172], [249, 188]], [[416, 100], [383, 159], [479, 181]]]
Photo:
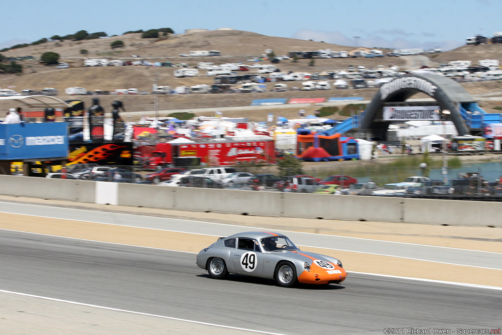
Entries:
[[231, 257], [235, 272], [249, 276], [263, 273], [263, 253], [257, 240], [238, 238]]

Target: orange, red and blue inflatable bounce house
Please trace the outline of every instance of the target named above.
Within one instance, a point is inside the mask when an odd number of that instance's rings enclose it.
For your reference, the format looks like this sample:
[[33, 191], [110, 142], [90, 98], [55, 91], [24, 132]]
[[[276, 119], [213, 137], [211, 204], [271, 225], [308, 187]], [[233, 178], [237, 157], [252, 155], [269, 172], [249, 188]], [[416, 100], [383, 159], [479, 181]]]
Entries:
[[298, 130], [296, 154], [307, 162], [359, 159], [357, 141], [329, 131], [316, 134], [308, 129]]

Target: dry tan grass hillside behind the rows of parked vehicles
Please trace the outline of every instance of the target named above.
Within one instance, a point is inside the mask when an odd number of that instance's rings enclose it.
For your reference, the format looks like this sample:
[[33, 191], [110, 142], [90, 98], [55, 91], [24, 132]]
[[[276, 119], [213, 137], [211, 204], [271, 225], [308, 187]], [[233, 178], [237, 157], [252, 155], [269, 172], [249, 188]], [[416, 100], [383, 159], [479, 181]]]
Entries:
[[[126, 47], [111, 49], [110, 43], [121, 40]], [[249, 57], [259, 56], [265, 49], [273, 49], [276, 55], [285, 55], [293, 50], [318, 50], [331, 49], [334, 51], [349, 51], [352, 47], [328, 44], [323, 42], [304, 41], [290, 38], [265, 36], [251, 32], [227, 30], [206, 31], [192, 34], [171, 35], [161, 39], [142, 39], [141, 34], [127, 34], [87, 41], [49, 41], [47, 43], [10, 50], [3, 54], [7, 57], [31, 55], [35, 60], [20, 61], [24, 67], [22, 75], [0, 75], [0, 87], [15, 86], [17, 91], [22, 89], [40, 90], [43, 87], [55, 87], [62, 94], [58, 97], [67, 100], [72, 98], [65, 95], [64, 89], [70, 86], [85, 87], [87, 90], [109, 90], [119, 88], [138, 88], [151, 91], [153, 79], [159, 85], [190, 86], [195, 84], [211, 84], [211, 77], [176, 78], [173, 76], [175, 68], [172, 67], [146, 67], [146, 66], [119, 66], [119, 67], [83, 67], [84, 55], [81, 49], [88, 50], [87, 58], [107, 58], [122, 60], [148, 60], [170, 61], [172, 63], [184, 62], [196, 65], [197, 62], [210, 61], [216, 64], [237, 62], [244, 63]], [[179, 54], [188, 53], [191, 50], [219, 50], [221, 57], [179, 57]], [[389, 50], [382, 49], [384, 52]], [[69, 69], [57, 70], [54, 66], [45, 66], [38, 61], [40, 56], [47, 51], [60, 54], [60, 61], [70, 64]], [[471, 60], [477, 64], [480, 59], [498, 59], [502, 51], [502, 45], [487, 44], [478, 46], [463, 46], [458, 49], [431, 55], [431, 65], [447, 63], [452, 60]], [[131, 55], [140, 55], [133, 58]], [[266, 62], [268, 63], [268, 62]], [[346, 69], [348, 65], [364, 65], [376, 67], [382, 64], [389, 66], [395, 63], [402, 69], [406, 69], [406, 57], [393, 58], [339, 58], [339, 59], [316, 59], [315, 66], [309, 66], [309, 60], [283, 60], [276, 64], [281, 71], [295, 72], [322, 72], [329, 70]], [[203, 71], [201, 71], [203, 73]], [[271, 84], [269, 84], [271, 85]], [[301, 85], [299, 82], [288, 82], [290, 87]], [[499, 82], [466, 83], [464, 87], [471, 94], [496, 92], [502, 90]], [[182, 109], [199, 107], [221, 107], [249, 105], [255, 98], [270, 97], [329, 97], [329, 96], [363, 96], [370, 99], [375, 89], [358, 90], [329, 90], [329, 91], [290, 91], [281, 93], [247, 93], [247, 94], [203, 94], [203, 95], [167, 95], [159, 96], [159, 109]], [[79, 96], [88, 106], [92, 96]], [[128, 111], [152, 110], [154, 97], [151, 95], [110, 95], [101, 96], [103, 106], [109, 106], [114, 99], [124, 101]], [[483, 102], [484, 103], [484, 102]], [[485, 108], [499, 106], [497, 103], [485, 103]], [[3, 103], [0, 109], [11, 107], [10, 103]], [[316, 107], [308, 108], [315, 109]], [[290, 108], [291, 114], [297, 114], [298, 108]], [[285, 117], [288, 113], [285, 111]], [[307, 110], [309, 111], [309, 110]], [[497, 110], [493, 110], [497, 111]], [[497, 111], [498, 112], [498, 111]], [[0, 113], [0, 116], [3, 116]], [[246, 115], [248, 116], [248, 115]]]

